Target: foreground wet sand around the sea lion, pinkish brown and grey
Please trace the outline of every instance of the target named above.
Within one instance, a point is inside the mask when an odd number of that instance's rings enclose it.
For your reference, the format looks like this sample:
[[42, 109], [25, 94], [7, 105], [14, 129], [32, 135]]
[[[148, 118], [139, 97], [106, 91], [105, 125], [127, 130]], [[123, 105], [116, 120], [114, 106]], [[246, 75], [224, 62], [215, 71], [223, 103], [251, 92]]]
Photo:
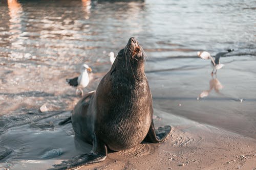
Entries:
[[[156, 115], [154, 121], [157, 126], [170, 124], [173, 128], [164, 142], [143, 143], [130, 150], [109, 153], [104, 162], [82, 166], [79, 169], [253, 169], [256, 167], [255, 139], [199, 124], [173, 114], [166, 116], [165, 112], [157, 109], [154, 111]], [[46, 169], [52, 164], [60, 163], [61, 160], [89, 152], [91, 145], [73, 138], [71, 124], [63, 127], [57, 125], [60, 119], [69, 114], [70, 112], [58, 113], [35, 123], [42, 125], [44, 121], [53, 121], [52, 128], [23, 125], [9, 129], [6, 135], [1, 136], [0, 142], [4, 145], [13, 145], [14, 151], [6, 163], [0, 163], [0, 166], [9, 169]], [[26, 130], [21, 133], [22, 129]], [[48, 154], [49, 158], [52, 156], [51, 159], [44, 157], [54, 148], [60, 151], [59, 155], [52, 153]]]

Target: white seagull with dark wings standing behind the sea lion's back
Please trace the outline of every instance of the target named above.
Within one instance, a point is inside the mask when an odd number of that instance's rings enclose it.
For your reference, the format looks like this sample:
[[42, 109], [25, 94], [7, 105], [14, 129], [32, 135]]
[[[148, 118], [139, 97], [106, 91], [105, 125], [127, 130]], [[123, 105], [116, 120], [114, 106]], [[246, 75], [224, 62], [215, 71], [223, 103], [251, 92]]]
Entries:
[[92, 68], [89, 67], [87, 64], [83, 64], [81, 68], [81, 74], [79, 77], [75, 77], [73, 79], [66, 79], [67, 83], [69, 83], [71, 86], [76, 87], [76, 95], [78, 94], [78, 90], [80, 90], [82, 96], [82, 88], [87, 87], [89, 84], [89, 75], [87, 70], [91, 72]]

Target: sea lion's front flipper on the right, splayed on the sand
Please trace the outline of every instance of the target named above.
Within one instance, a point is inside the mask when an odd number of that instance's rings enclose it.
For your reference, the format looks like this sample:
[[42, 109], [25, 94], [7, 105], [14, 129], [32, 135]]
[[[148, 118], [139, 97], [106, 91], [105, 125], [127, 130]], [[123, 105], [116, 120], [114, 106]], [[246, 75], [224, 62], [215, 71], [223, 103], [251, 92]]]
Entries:
[[171, 129], [172, 128], [170, 126], [159, 127], [158, 129], [155, 129], [154, 123], [153, 123], [153, 120], [152, 120], [151, 125], [150, 125], [150, 129], [148, 130], [144, 141], [152, 142], [152, 143], [161, 142], [170, 133]]

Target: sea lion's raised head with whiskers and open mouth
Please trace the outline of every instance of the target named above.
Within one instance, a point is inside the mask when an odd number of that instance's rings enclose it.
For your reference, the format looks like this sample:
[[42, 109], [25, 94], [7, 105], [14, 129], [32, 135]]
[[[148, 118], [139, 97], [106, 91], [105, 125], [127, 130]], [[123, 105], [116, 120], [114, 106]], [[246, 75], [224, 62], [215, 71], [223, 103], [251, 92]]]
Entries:
[[144, 57], [142, 46], [134, 37], [131, 37], [127, 45], [119, 51], [111, 72], [118, 70], [121, 74], [138, 78], [139, 75], [144, 74]]

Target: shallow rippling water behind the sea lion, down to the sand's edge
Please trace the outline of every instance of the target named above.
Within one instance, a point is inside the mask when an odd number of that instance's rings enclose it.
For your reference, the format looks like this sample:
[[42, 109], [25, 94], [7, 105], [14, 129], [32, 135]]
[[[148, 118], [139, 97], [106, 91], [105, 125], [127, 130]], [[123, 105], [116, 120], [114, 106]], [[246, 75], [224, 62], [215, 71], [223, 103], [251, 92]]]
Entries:
[[[79, 98], [65, 79], [87, 63], [94, 78], [85, 91], [95, 90], [111, 67], [108, 54], [132, 36], [147, 54], [155, 109], [256, 139], [255, 16], [249, 0], [1, 0], [0, 143], [19, 134], [8, 128], [34, 127], [42, 104], [53, 115], [72, 110]], [[210, 61], [197, 51], [215, 56], [228, 48], [234, 51], [211, 77]], [[197, 100], [213, 82], [218, 88]], [[39, 127], [53, 129], [47, 121]]]

